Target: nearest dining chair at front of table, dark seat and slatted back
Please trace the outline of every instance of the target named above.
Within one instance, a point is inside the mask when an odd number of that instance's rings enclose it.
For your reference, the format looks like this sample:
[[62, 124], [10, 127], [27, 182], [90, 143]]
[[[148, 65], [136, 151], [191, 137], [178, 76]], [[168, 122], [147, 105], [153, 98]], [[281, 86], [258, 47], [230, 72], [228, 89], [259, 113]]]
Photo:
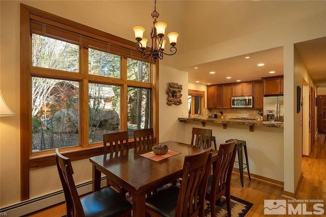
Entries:
[[171, 185], [149, 196], [146, 199], [147, 215], [204, 216], [210, 164], [211, 148], [185, 156], [180, 187]]

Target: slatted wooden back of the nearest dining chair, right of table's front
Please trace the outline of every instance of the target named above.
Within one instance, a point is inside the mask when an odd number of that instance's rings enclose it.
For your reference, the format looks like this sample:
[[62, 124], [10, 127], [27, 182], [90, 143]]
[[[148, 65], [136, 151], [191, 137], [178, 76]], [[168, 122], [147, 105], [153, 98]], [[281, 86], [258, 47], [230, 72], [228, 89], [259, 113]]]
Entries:
[[204, 216], [205, 193], [211, 165], [211, 148], [187, 155], [175, 216]]

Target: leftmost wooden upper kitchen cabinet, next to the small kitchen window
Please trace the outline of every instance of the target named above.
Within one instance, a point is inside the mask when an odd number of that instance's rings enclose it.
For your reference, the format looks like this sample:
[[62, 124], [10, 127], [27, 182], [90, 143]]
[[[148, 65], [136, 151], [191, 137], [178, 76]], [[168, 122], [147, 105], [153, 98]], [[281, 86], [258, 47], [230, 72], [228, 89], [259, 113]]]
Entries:
[[207, 108], [223, 107], [223, 86], [207, 86]]

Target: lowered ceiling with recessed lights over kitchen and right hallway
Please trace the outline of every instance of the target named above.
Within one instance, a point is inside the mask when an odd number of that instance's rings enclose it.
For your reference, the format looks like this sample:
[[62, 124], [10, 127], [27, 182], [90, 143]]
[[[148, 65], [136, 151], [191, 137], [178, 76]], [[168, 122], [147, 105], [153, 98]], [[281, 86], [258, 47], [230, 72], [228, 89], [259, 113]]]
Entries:
[[[294, 46], [315, 85], [326, 87], [326, 37], [296, 43]], [[265, 65], [257, 66], [259, 63]], [[283, 75], [283, 47], [200, 64], [197, 67], [198, 69], [191, 67], [182, 70], [188, 72], [189, 82], [199, 82], [203, 85], [233, 83], [237, 80], [244, 82], [266, 76]], [[215, 73], [210, 74], [212, 71]], [[271, 74], [270, 71], [275, 73]]]

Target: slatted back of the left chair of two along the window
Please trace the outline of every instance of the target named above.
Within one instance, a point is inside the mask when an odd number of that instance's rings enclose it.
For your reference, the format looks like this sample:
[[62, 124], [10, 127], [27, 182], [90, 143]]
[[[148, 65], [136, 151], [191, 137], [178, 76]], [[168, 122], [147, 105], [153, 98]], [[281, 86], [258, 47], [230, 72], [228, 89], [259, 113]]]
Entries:
[[104, 154], [129, 149], [128, 139], [127, 131], [103, 134]]

